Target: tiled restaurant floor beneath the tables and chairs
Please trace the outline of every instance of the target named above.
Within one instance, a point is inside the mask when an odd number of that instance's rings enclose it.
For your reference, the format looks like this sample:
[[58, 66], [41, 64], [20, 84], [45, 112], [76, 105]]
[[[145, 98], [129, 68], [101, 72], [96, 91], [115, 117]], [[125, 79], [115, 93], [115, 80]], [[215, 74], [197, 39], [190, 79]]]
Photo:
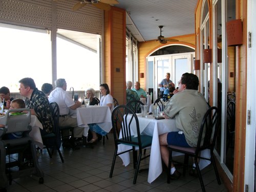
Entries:
[[[147, 172], [139, 173], [137, 183], [133, 184], [133, 165], [122, 166], [117, 158], [114, 174], [109, 178], [114, 141], [98, 142], [95, 147], [81, 147], [80, 150], [63, 150], [65, 163], [61, 163], [57, 153], [50, 159], [44, 150], [39, 158], [39, 165], [45, 172], [44, 184], [38, 184], [36, 177], [15, 179], [7, 191], [201, 191], [198, 178], [185, 176], [179, 180], [166, 183], [166, 173], [162, 173], [153, 183], [147, 182]], [[149, 153], [150, 150], [147, 150]], [[141, 168], [148, 167], [148, 160], [141, 163]], [[206, 191], [227, 191], [223, 182], [218, 185], [212, 165], [203, 170]]]

